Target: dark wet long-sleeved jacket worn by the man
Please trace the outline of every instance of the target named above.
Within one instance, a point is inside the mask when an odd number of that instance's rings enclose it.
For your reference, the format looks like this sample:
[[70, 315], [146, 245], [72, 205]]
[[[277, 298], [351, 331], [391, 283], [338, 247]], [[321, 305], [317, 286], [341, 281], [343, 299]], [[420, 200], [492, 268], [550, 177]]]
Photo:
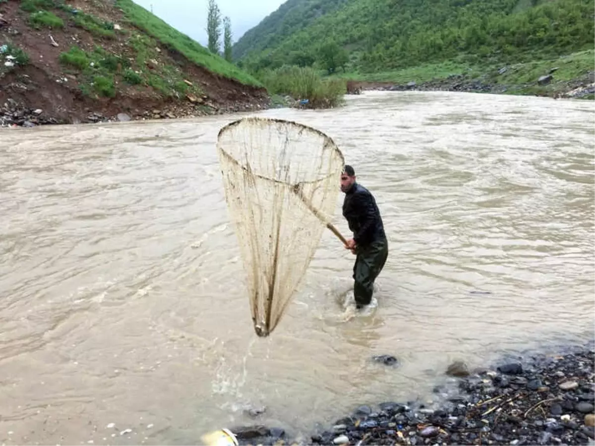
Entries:
[[349, 229], [353, 232], [353, 240], [358, 246], [366, 246], [386, 238], [374, 196], [358, 183], [353, 183], [345, 194], [343, 217], [347, 220]]

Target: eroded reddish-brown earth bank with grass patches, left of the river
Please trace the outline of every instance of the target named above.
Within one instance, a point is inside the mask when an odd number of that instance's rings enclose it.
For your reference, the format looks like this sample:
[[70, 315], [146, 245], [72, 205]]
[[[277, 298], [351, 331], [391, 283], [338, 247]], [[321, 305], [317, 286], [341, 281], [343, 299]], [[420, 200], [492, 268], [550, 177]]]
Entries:
[[0, 0], [0, 125], [196, 116], [269, 100], [255, 77], [131, 0]]

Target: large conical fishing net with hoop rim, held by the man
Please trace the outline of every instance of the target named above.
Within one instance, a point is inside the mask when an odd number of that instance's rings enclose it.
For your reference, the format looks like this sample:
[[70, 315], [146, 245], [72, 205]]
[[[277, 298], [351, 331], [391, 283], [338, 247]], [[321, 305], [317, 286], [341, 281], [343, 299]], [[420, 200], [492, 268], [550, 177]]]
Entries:
[[324, 133], [243, 118], [220, 130], [223, 185], [246, 271], [255, 332], [275, 329], [330, 223], [344, 158]]

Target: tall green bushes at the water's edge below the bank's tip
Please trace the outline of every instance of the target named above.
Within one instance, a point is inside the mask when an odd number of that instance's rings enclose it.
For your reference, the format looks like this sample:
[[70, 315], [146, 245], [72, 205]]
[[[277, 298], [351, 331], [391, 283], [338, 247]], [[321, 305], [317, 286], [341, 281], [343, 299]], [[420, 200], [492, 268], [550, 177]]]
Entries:
[[330, 108], [342, 104], [346, 81], [323, 78], [310, 67], [286, 66], [261, 74], [267, 90], [274, 95], [289, 95], [293, 99], [308, 99], [308, 108]]

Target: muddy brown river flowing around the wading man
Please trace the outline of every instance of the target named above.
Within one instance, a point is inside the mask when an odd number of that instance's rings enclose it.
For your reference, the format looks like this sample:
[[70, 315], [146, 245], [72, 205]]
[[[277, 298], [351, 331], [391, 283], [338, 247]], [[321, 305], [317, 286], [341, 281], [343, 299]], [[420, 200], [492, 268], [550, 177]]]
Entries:
[[327, 133], [374, 192], [378, 307], [342, 318], [353, 256], [327, 230], [256, 337], [215, 152], [241, 115], [3, 129], [0, 445], [198, 445], [255, 422], [307, 435], [429, 398], [453, 360], [590, 338], [595, 103], [369, 92], [261, 114]]

